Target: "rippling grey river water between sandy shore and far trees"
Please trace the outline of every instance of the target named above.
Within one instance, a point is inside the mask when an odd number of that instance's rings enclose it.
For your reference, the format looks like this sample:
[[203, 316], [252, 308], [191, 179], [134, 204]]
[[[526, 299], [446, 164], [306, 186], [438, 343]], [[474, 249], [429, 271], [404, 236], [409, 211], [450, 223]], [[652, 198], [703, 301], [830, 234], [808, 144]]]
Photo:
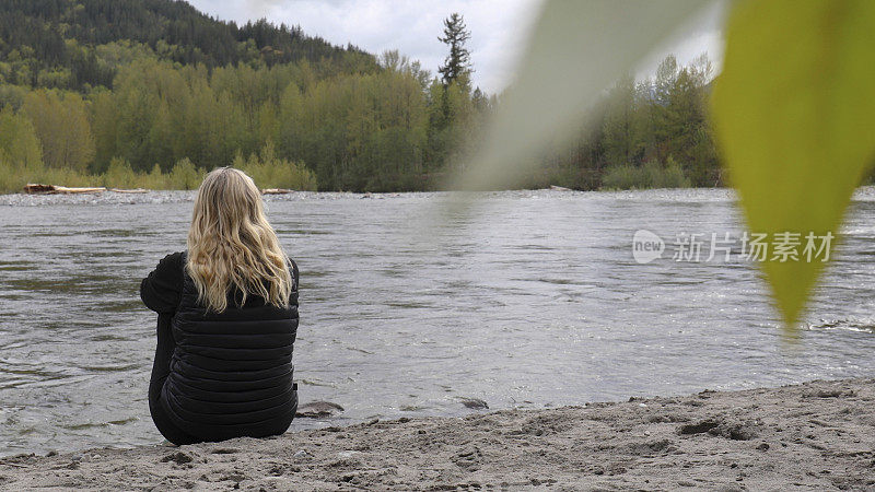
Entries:
[[[160, 443], [140, 280], [185, 248], [192, 192], [0, 197], [0, 454]], [[301, 401], [365, 419], [872, 376], [875, 189], [797, 341], [737, 255], [640, 265], [632, 236], [742, 233], [727, 190], [267, 197], [301, 268]], [[739, 253], [735, 244], [733, 253]]]

